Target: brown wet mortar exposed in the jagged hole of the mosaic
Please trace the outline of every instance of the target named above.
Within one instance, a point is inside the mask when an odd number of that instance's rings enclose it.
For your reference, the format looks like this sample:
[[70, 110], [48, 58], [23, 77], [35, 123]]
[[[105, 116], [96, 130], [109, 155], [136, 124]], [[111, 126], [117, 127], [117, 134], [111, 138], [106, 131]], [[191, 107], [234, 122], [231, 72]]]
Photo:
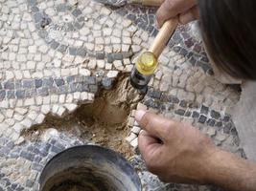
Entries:
[[125, 140], [129, 133], [128, 116], [143, 98], [131, 87], [127, 74], [117, 77], [111, 90], [101, 89], [92, 103], [81, 104], [72, 114], [45, 117], [42, 124], [35, 125], [22, 136], [35, 140], [49, 128], [66, 132], [77, 138], [90, 140], [113, 149], [129, 159], [134, 150]]

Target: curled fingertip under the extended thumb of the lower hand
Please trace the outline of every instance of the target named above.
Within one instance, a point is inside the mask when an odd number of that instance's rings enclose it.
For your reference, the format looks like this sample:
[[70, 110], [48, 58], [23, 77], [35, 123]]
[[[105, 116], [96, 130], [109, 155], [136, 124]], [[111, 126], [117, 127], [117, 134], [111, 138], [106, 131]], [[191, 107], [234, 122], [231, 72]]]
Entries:
[[157, 149], [162, 144], [159, 143], [157, 138], [152, 137], [148, 132], [142, 130], [139, 134], [139, 150], [144, 159], [153, 158]]

